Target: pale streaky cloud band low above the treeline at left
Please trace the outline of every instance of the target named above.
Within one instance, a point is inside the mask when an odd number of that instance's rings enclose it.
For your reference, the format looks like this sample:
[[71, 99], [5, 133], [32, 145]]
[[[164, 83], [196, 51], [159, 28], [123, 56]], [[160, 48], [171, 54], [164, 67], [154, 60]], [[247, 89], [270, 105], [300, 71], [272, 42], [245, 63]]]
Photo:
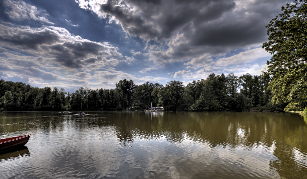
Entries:
[[[64, 67], [53, 67], [48, 63], [48, 58], [37, 58], [24, 56], [22, 54], [11, 54], [3, 52], [1, 54], [1, 73], [0, 78], [7, 80], [16, 79], [17, 81], [26, 81], [39, 87], [64, 87], [67, 90], [74, 91], [80, 86], [87, 86], [91, 89], [96, 88], [114, 88], [115, 84], [122, 79], [132, 79], [136, 84], [142, 84], [147, 81], [159, 82], [156, 77], [136, 77], [129, 73], [108, 68], [106, 70], [72, 70], [68, 71]], [[44, 63], [44, 64], [42, 64]], [[17, 70], [18, 69], [18, 70]]]

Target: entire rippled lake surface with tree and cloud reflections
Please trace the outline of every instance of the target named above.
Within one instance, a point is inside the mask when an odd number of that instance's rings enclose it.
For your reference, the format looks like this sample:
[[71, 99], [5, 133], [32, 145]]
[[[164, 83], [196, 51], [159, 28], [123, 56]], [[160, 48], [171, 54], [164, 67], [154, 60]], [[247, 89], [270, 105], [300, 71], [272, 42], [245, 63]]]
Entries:
[[89, 113], [0, 113], [0, 178], [307, 178], [297, 113]]

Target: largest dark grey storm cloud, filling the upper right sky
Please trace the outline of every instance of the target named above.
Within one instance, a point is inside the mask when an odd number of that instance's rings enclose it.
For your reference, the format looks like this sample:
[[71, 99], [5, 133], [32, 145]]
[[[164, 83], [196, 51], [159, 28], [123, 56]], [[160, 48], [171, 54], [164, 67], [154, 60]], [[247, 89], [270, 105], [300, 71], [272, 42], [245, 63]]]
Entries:
[[[77, 0], [127, 33], [163, 46], [146, 49], [157, 63], [223, 55], [267, 40], [265, 26], [288, 0], [107, 1]], [[81, 7], [84, 8], [84, 7]]]

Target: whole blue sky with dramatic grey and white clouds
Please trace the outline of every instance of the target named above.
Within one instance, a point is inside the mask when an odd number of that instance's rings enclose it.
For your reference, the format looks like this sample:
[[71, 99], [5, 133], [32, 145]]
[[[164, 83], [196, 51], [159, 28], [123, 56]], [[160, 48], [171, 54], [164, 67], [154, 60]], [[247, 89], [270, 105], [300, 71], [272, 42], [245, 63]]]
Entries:
[[0, 78], [74, 92], [260, 75], [289, 0], [0, 1]]

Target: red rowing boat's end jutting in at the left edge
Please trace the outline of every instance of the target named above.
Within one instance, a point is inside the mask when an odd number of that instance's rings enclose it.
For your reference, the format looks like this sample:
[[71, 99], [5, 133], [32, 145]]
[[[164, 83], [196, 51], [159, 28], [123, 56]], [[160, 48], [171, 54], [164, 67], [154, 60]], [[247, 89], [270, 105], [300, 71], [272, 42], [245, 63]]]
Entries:
[[0, 152], [2, 153], [25, 145], [29, 141], [30, 135], [31, 134], [0, 139]]

